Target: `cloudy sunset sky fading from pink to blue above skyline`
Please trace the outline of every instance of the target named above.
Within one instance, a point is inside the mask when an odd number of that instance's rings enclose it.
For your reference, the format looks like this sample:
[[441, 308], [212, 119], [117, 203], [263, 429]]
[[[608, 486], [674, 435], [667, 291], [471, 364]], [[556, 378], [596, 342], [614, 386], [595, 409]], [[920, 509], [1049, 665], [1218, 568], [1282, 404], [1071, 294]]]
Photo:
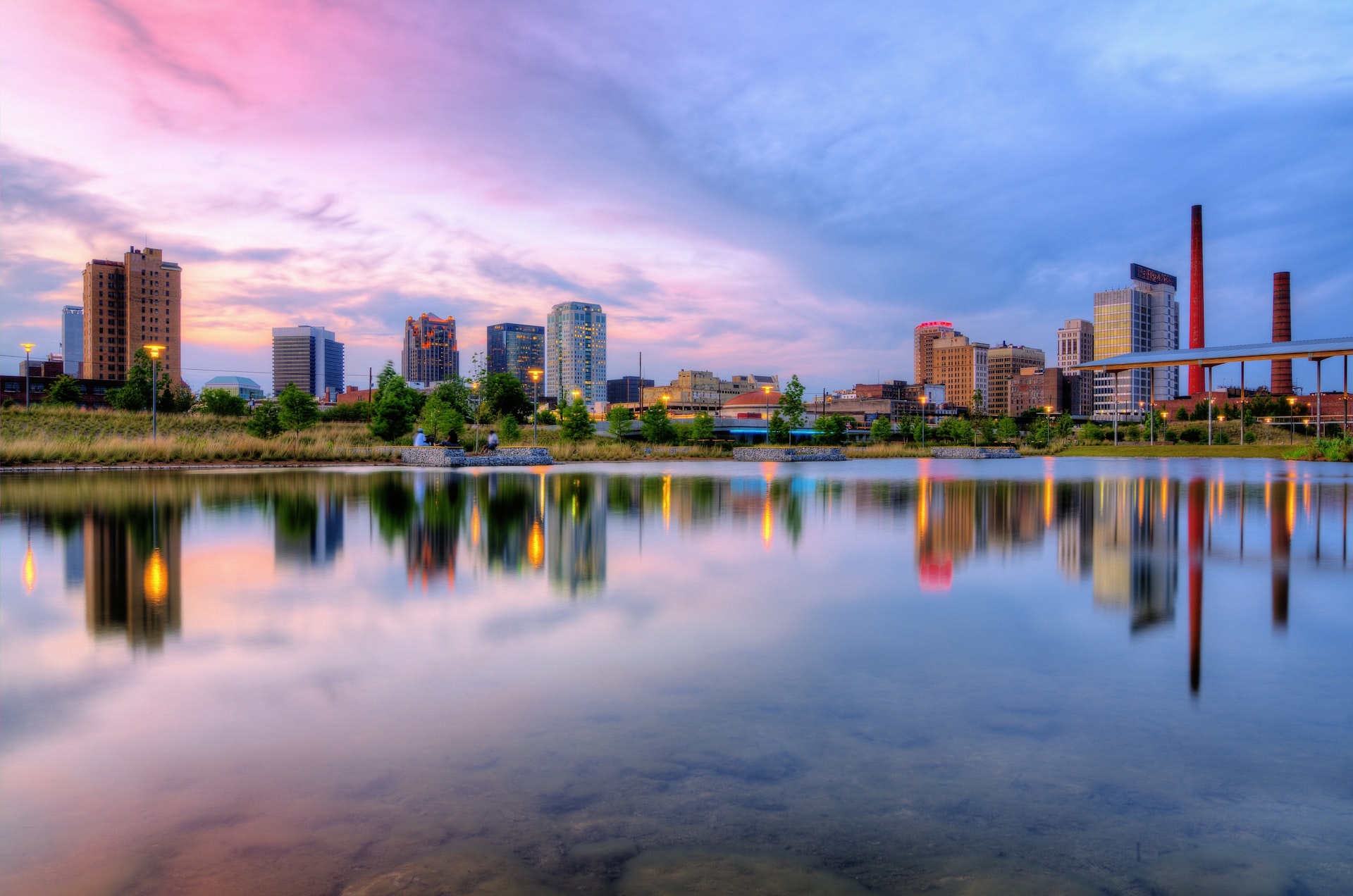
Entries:
[[334, 330], [365, 386], [409, 315], [453, 315], [464, 368], [575, 299], [612, 378], [909, 380], [916, 323], [1054, 353], [1134, 261], [1178, 276], [1187, 345], [1195, 203], [1208, 344], [1270, 337], [1275, 271], [1293, 338], [1353, 336], [1345, 1], [0, 15], [7, 372], [131, 245], [184, 268], [199, 387], [268, 383], [273, 326]]

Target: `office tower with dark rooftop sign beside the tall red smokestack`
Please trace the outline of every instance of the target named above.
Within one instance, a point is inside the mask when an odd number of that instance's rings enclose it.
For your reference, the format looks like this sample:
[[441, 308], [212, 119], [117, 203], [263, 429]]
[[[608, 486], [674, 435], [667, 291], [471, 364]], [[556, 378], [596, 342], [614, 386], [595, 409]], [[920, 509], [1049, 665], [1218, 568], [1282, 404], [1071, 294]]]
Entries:
[[[1128, 352], [1162, 352], [1180, 346], [1180, 306], [1174, 300], [1177, 280], [1139, 264], [1128, 269], [1130, 286], [1095, 294], [1095, 360]], [[1095, 418], [1145, 420], [1151, 399], [1165, 401], [1178, 393], [1177, 367], [1123, 371], [1095, 376]]]

